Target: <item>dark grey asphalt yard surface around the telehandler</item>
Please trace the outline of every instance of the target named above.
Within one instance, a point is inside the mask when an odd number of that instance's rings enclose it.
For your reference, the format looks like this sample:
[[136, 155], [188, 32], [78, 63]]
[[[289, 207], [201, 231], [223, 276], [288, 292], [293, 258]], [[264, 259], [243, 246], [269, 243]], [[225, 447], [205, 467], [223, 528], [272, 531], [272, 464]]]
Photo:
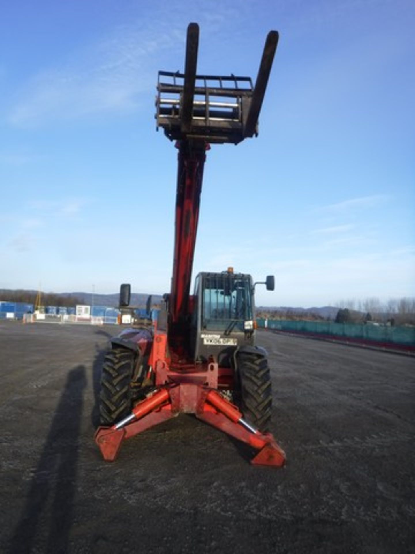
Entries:
[[415, 552], [413, 358], [258, 333], [283, 469], [191, 416], [94, 440], [116, 327], [0, 322], [0, 551]]

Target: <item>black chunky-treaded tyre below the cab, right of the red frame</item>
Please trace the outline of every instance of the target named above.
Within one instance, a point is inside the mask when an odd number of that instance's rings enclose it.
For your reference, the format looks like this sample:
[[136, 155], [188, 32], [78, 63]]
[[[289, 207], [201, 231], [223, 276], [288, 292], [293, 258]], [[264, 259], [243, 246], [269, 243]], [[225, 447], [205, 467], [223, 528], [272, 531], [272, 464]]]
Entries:
[[238, 404], [249, 422], [268, 430], [272, 413], [272, 386], [268, 360], [261, 352], [238, 352]]

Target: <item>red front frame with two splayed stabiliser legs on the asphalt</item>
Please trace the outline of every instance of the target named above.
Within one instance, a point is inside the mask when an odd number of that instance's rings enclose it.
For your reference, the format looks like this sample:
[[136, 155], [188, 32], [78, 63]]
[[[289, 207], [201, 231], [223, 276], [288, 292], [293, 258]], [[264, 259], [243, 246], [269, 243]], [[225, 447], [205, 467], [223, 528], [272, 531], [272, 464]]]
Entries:
[[[162, 353], [167, 344], [167, 335], [155, 334], [153, 355]], [[165, 351], [165, 350], [164, 350]], [[281, 467], [285, 461], [284, 451], [269, 433], [261, 433], [246, 422], [234, 404], [217, 392], [219, 367], [211, 362], [174, 371], [163, 357], [155, 361], [155, 375], [159, 388], [136, 404], [130, 416], [112, 427], [98, 427], [95, 442], [105, 460], [113, 461], [124, 439], [177, 416], [180, 412], [192, 413], [224, 433], [248, 444], [257, 454], [251, 460], [254, 465]]]

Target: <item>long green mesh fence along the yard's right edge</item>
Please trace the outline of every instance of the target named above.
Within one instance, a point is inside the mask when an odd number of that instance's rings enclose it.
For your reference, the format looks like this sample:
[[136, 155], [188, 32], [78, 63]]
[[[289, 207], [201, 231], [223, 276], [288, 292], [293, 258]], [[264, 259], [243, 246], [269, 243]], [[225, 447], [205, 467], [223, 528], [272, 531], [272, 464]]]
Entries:
[[[265, 320], [258, 319], [258, 327], [265, 327]], [[268, 329], [294, 331], [333, 337], [355, 338], [375, 342], [415, 346], [414, 327], [387, 327], [384, 325], [353, 325], [331, 321], [268, 320]]]

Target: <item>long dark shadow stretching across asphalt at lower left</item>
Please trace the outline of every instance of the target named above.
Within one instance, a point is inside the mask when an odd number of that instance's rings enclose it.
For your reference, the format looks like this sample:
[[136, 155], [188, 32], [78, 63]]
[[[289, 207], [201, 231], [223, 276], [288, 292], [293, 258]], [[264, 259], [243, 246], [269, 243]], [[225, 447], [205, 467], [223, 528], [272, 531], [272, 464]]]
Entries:
[[73, 523], [77, 459], [86, 372], [74, 367], [66, 379], [42, 454], [34, 471], [22, 517], [15, 527], [9, 554], [32, 552], [35, 539], [42, 552], [66, 552]]

